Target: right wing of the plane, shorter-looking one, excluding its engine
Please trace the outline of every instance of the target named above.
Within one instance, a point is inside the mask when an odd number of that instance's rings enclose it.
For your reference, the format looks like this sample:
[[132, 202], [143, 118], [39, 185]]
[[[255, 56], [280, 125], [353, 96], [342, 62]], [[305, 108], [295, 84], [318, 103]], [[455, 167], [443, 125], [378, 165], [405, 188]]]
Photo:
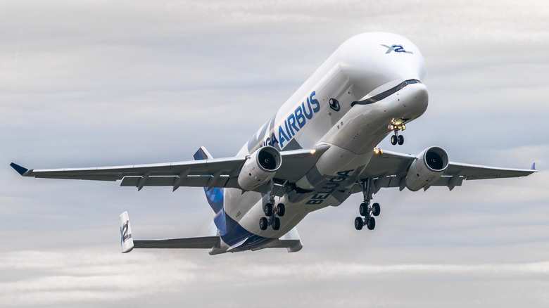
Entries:
[[[415, 158], [414, 155], [379, 150], [378, 153], [374, 153], [361, 177], [374, 179], [374, 193], [384, 187], [398, 187], [402, 191], [405, 188], [404, 179], [408, 168]], [[441, 179], [426, 186], [424, 190], [431, 186], [447, 186], [451, 191], [455, 186], [461, 186], [465, 180], [526, 177], [534, 172], [535, 165], [532, 165], [531, 169], [510, 169], [450, 162]], [[362, 188], [355, 184], [353, 193], [359, 191], [362, 191]]]

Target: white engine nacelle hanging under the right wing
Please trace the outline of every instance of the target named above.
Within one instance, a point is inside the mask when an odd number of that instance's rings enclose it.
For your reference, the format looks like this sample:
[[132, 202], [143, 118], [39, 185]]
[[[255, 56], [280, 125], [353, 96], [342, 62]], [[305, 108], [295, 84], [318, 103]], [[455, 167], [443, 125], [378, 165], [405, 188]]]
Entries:
[[448, 167], [448, 153], [436, 146], [426, 148], [415, 158], [408, 174], [406, 174], [406, 187], [410, 191], [419, 191], [425, 186], [431, 185], [440, 179], [444, 170]]

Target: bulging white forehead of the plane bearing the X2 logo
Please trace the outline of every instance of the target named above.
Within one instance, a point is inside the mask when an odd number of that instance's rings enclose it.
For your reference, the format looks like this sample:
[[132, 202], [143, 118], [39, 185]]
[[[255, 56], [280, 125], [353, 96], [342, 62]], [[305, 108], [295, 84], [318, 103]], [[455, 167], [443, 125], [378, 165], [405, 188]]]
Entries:
[[364, 94], [387, 82], [422, 80], [425, 74], [421, 51], [398, 34], [358, 34], [341, 44], [335, 56], [341, 70]]

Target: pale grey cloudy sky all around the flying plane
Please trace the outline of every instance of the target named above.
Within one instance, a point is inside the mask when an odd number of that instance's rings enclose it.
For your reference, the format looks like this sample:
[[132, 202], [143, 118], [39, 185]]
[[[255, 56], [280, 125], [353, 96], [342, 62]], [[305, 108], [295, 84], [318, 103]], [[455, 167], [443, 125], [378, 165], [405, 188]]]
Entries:
[[[539, 172], [449, 192], [387, 188], [298, 225], [303, 250], [120, 254], [205, 236], [200, 188], [20, 177], [31, 169], [234, 155], [346, 39], [396, 32], [427, 63], [406, 142]], [[549, 6], [545, 1], [0, 1], [1, 307], [547, 307]]]

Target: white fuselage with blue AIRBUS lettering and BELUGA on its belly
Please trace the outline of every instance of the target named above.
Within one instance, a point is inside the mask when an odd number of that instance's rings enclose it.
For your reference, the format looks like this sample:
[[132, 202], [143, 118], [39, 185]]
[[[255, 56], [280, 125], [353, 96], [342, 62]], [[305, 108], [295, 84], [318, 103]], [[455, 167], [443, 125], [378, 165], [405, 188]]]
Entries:
[[[405, 80], [421, 81], [424, 72], [419, 49], [398, 34], [359, 34], [345, 41], [238, 153], [248, 155], [267, 145], [284, 151], [329, 144], [315, 167], [295, 183], [298, 189], [276, 198], [286, 205], [280, 229], [260, 230], [267, 196], [236, 188], [225, 189], [227, 219], [260, 238], [279, 238], [309, 212], [343, 203], [374, 147], [391, 133], [391, 120], [408, 123], [427, 109], [427, 88], [409, 84], [379, 101], [353, 102]], [[230, 245], [222, 242], [221, 250]]]

